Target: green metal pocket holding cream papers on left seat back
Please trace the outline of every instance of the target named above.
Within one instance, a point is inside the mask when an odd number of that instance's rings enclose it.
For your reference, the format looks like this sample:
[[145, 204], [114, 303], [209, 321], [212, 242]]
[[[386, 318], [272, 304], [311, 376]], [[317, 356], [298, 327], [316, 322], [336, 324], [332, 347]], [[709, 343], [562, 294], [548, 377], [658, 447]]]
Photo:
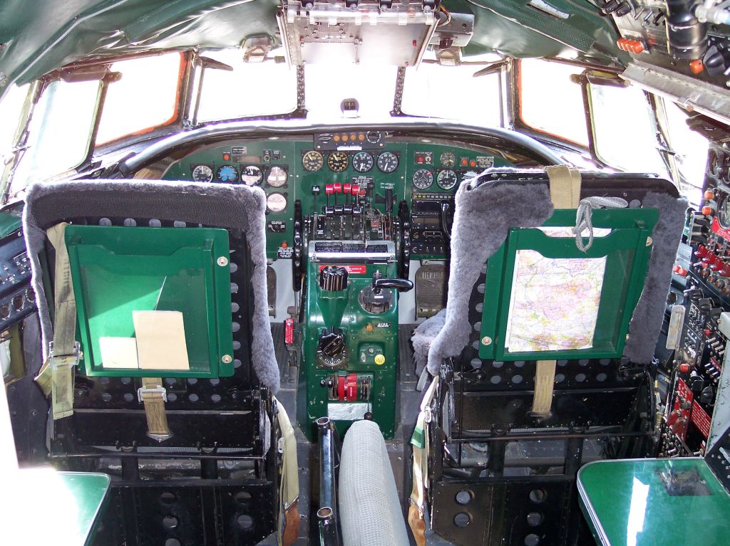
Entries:
[[[233, 375], [228, 232], [69, 225], [66, 246], [86, 375]], [[225, 258], [223, 265], [219, 258]], [[190, 370], [104, 367], [100, 338], [134, 338], [134, 311], [180, 311]]]

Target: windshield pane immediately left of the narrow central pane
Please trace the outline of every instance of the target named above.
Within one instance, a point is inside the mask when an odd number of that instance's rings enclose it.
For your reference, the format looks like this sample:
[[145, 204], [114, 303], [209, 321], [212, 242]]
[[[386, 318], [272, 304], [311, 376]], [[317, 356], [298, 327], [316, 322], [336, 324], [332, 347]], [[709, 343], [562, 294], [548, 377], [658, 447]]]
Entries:
[[[269, 57], [276, 52], [269, 53]], [[205, 69], [198, 121], [288, 114], [296, 109], [296, 69], [286, 63], [245, 63], [242, 50], [203, 52], [233, 71]]]

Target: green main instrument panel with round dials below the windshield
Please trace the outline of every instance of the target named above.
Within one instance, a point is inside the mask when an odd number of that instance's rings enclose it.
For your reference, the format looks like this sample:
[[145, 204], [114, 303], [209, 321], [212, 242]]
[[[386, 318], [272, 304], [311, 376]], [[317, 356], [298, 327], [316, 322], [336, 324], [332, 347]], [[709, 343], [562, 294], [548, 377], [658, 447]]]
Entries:
[[354, 130], [309, 139], [231, 141], [197, 149], [174, 163], [163, 178], [263, 188], [266, 254], [271, 260], [293, 256], [296, 201], [301, 202], [305, 217], [318, 215], [310, 239], [351, 239], [363, 235], [358, 228], [360, 215], [386, 214], [388, 198], [393, 214], [401, 200], [412, 214], [411, 257], [443, 259], [447, 243], [442, 235], [442, 209], [453, 214], [459, 184], [491, 166], [512, 163], [491, 149], [426, 139], [396, 140], [380, 131]]

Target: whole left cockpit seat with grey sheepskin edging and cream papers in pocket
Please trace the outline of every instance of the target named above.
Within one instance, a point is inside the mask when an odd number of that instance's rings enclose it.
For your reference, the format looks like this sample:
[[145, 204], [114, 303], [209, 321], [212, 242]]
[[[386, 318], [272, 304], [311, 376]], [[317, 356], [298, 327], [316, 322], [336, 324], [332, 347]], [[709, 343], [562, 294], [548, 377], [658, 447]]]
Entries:
[[[56, 467], [112, 478], [97, 544], [299, 534], [266, 303], [265, 195], [188, 182], [28, 190]], [[287, 525], [288, 522], [288, 525]]]

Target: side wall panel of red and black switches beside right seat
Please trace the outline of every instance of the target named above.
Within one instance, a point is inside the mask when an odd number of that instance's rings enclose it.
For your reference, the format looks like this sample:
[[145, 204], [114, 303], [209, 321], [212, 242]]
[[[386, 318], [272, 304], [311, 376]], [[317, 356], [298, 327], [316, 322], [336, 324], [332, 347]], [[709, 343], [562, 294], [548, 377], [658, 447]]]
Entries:
[[[729, 157], [710, 151], [702, 206], [688, 211], [673, 271], [670, 301], [685, 318], [670, 367], [659, 456], [704, 456], [728, 338], [721, 313], [730, 311]], [[678, 288], [678, 290], [677, 290]]]

